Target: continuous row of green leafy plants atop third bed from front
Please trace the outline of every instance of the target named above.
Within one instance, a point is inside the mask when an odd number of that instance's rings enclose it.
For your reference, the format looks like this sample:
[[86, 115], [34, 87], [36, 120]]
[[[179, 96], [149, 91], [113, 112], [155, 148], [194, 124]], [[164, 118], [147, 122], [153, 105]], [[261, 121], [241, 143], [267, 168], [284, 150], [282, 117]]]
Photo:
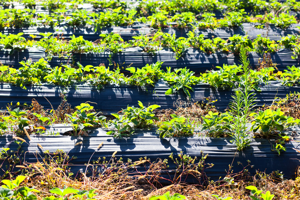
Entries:
[[[290, 49], [293, 52], [292, 59], [299, 59], [300, 55], [300, 39], [298, 35], [287, 35], [278, 41], [270, 40], [269, 37], [258, 35], [253, 41], [247, 35], [239, 34], [224, 40], [220, 37], [212, 39], [204, 39], [203, 34], [196, 31], [189, 31], [187, 38], [176, 38], [175, 34], [157, 31], [149, 35], [134, 36], [134, 40], [124, 41], [118, 33], [100, 34], [97, 42], [90, 42], [83, 39], [82, 36], [70, 36], [68, 38], [60, 38], [52, 36], [52, 33], [40, 33], [43, 38], [41, 40], [26, 40], [22, 37], [23, 33], [5, 35], [0, 33], [0, 50], [22, 51], [26, 48], [35, 47], [37, 49], [45, 49], [46, 58], [51, 60], [53, 56], [58, 58], [72, 59], [74, 54], [83, 53], [108, 53], [109, 61], [112, 64], [112, 57], [129, 47], [140, 47], [143, 52], [155, 55], [161, 49], [170, 49], [175, 52], [174, 58], [184, 58], [188, 49], [193, 48], [207, 54], [216, 52], [233, 53], [238, 55], [240, 46], [243, 45], [247, 51], [257, 52], [261, 55], [264, 53], [274, 53], [279, 49]], [[31, 37], [35, 37], [31, 35]]]

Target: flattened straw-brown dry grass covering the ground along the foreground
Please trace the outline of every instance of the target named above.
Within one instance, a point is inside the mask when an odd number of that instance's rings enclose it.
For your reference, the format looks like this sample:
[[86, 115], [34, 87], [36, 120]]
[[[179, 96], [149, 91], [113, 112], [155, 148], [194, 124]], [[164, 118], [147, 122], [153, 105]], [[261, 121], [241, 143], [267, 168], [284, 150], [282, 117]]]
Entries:
[[49, 189], [52, 187], [62, 188], [64, 185], [80, 190], [96, 189], [98, 193], [96, 199], [101, 200], [123, 200], [137, 199], [148, 200], [151, 196], [162, 195], [167, 191], [180, 193], [186, 196], [186, 199], [196, 200], [213, 200], [213, 194], [220, 197], [233, 197], [233, 199], [250, 199], [250, 191], [245, 187], [255, 185], [264, 192], [269, 190], [274, 194], [274, 199], [299, 199], [300, 179], [293, 180], [275, 180], [272, 175], [258, 173], [248, 181], [238, 181], [237, 185], [228, 185], [221, 183], [221, 186], [210, 184], [206, 187], [199, 185], [188, 185], [184, 183], [165, 185], [155, 187], [149, 184], [145, 178], [132, 179], [128, 176], [122, 176], [118, 173], [107, 174], [101, 178], [91, 178], [83, 176], [82, 179], [70, 178], [65, 171], [57, 166], [45, 166], [44, 163], [36, 163], [31, 166], [37, 169], [40, 175], [29, 177], [23, 185], [28, 187], [35, 186], [41, 193], [36, 194], [38, 199], [50, 196]]

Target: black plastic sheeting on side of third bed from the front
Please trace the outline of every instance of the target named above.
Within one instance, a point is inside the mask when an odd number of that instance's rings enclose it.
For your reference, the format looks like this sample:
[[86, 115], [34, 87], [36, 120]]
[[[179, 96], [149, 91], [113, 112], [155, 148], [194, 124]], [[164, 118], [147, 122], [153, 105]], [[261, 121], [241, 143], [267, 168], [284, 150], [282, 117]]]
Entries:
[[[286, 70], [287, 66], [295, 65], [300, 66], [299, 61], [292, 59], [293, 52], [289, 49], [280, 49], [278, 52], [271, 54], [273, 63], [276, 63], [278, 70]], [[254, 68], [258, 65], [261, 55], [256, 52], [248, 52], [248, 59]], [[109, 53], [88, 53], [88, 54], [74, 54], [73, 60], [81, 63], [83, 66], [105, 64], [109, 66]], [[121, 67], [138, 67], [141, 68], [146, 64], [156, 63], [157, 61], [164, 61], [162, 69], [166, 70], [167, 67], [184, 68], [187, 67], [196, 73], [211, 70], [216, 66], [223, 66], [223, 64], [240, 64], [239, 55], [233, 53], [217, 52], [214, 54], [207, 54], [199, 49], [189, 48], [186, 50], [182, 58], [175, 59], [175, 53], [171, 49], [161, 49], [155, 55], [143, 52], [140, 47], [127, 48], [124, 52], [117, 53], [112, 57], [113, 62], [118, 63]], [[262, 60], [262, 59], [261, 59]], [[53, 57], [49, 64], [57, 66], [61, 63], [66, 64], [70, 62], [69, 58]], [[216, 68], [216, 70], [218, 70]]]

